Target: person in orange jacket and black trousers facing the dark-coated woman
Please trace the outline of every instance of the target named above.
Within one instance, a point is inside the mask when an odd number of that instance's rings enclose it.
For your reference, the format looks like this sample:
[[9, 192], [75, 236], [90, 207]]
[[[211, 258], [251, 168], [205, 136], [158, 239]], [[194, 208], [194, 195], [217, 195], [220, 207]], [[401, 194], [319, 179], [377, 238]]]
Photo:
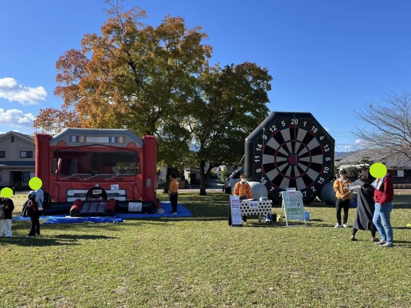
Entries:
[[[348, 209], [350, 207], [351, 191], [348, 189], [351, 181], [347, 179], [347, 171], [340, 171], [340, 178], [335, 180], [333, 188], [335, 191], [335, 197], [337, 197], [337, 202], [335, 203], [335, 208], [337, 209], [337, 224], [334, 228], [348, 228]], [[344, 218], [343, 225], [341, 225], [341, 209], [344, 208]]]

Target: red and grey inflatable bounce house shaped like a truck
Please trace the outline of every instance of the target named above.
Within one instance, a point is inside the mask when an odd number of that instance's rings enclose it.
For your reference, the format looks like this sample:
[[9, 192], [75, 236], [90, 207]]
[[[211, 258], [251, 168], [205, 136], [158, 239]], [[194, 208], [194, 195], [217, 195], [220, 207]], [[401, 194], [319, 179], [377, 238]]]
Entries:
[[44, 214], [154, 213], [156, 139], [128, 129], [65, 128], [36, 135], [35, 175], [50, 195]]

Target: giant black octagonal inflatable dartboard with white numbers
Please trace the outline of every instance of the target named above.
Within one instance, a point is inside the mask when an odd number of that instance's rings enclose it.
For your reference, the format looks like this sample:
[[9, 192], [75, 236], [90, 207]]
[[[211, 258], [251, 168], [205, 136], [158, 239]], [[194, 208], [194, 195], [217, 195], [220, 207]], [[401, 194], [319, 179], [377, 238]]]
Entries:
[[334, 139], [309, 112], [272, 112], [246, 138], [245, 174], [273, 200], [294, 187], [310, 203], [333, 168]]

